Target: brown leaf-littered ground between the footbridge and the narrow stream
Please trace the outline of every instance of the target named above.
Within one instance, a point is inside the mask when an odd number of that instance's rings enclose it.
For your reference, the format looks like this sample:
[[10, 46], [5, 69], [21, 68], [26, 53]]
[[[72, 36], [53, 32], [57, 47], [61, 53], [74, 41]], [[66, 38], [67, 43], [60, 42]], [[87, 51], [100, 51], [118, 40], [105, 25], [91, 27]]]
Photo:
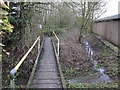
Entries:
[[[66, 33], [60, 38], [60, 62], [66, 78], [84, 76], [92, 70], [92, 63], [88, 59], [84, 46], [78, 42], [79, 29]], [[88, 64], [89, 63], [89, 64]]]

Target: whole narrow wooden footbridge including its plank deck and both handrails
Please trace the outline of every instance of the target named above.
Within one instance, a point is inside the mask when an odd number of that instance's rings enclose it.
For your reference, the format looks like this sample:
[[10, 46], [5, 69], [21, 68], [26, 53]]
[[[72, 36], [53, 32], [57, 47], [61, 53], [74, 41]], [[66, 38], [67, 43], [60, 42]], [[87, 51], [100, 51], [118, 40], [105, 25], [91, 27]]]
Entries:
[[[43, 40], [40, 45], [40, 36], [24, 55], [21, 61], [16, 65], [14, 69], [11, 70], [11, 80], [10, 87], [15, 88], [15, 73], [24, 62], [27, 55], [31, 52], [33, 47], [38, 42], [38, 56], [34, 64], [34, 68], [31, 72], [28, 84], [26, 88], [66, 88], [65, 81], [62, 75], [61, 67], [59, 64], [59, 39], [55, 32], [53, 31], [58, 44], [57, 49], [51, 38], [47, 37]], [[40, 53], [42, 52], [42, 58]]]

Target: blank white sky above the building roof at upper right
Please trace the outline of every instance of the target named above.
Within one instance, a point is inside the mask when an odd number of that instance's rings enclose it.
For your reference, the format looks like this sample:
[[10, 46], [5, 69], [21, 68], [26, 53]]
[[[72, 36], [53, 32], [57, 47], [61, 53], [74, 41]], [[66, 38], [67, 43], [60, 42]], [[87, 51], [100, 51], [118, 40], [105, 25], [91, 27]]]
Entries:
[[106, 4], [107, 11], [100, 18], [118, 14], [118, 2], [120, 2], [120, 0], [107, 0], [107, 4]]

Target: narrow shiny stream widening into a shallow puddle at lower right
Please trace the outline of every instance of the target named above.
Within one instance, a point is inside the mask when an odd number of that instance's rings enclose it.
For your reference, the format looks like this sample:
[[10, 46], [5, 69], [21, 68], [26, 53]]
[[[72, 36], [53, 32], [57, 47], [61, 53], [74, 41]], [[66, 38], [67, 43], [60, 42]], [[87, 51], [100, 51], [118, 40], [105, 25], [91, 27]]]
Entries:
[[[83, 36], [85, 37], [85, 36]], [[91, 76], [87, 77], [77, 77], [74, 79], [69, 80], [69, 82], [78, 84], [78, 83], [104, 83], [104, 82], [112, 82], [112, 79], [106, 74], [104, 74], [104, 68], [100, 67], [97, 68], [97, 60], [93, 60], [94, 50], [91, 48], [90, 44], [84, 39], [84, 44], [86, 45], [86, 52], [88, 57], [90, 58], [91, 62], [93, 63], [93, 69], [95, 72]], [[96, 72], [97, 71], [97, 72]]]

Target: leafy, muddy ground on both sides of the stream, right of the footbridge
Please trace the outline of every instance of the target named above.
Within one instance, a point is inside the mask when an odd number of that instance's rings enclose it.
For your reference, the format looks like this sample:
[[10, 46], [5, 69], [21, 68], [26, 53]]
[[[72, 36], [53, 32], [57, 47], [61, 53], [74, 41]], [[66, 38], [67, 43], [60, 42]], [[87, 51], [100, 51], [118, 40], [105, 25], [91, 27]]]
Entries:
[[[64, 34], [58, 35], [60, 39], [60, 63], [62, 66], [62, 71], [66, 82], [74, 78], [83, 78], [81, 83], [87, 83], [87, 78], [95, 73], [93, 70], [93, 63], [89, 59], [85, 45], [78, 42], [79, 29], [72, 28], [71, 30], [63, 31]], [[107, 87], [117, 87], [117, 75], [118, 75], [118, 59], [114, 51], [109, 47], [104, 45], [99, 39], [95, 37], [94, 34], [91, 34], [89, 37], [86, 37], [86, 40], [89, 42], [91, 47], [94, 49], [94, 59], [98, 61], [97, 68], [104, 67], [104, 73], [109, 75], [112, 79], [112, 84], [104, 84]], [[86, 78], [87, 77], [87, 78]], [[78, 87], [73, 86], [72, 87]], [[71, 87], [70, 84], [68, 87]], [[86, 85], [91, 86], [91, 85]]]

